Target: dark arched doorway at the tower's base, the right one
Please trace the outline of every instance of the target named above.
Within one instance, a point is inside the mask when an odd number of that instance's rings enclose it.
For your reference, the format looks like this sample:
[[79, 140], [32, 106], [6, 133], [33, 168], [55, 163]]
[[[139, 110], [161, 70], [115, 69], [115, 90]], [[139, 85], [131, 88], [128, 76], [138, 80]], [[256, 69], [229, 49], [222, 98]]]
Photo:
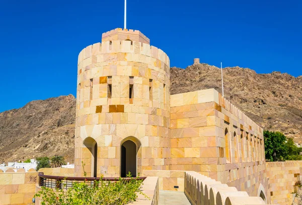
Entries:
[[121, 145], [121, 177], [126, 177], [130, 172], [136, 177], [137, 170], [137, 146], [131, 140], [127, 140]]

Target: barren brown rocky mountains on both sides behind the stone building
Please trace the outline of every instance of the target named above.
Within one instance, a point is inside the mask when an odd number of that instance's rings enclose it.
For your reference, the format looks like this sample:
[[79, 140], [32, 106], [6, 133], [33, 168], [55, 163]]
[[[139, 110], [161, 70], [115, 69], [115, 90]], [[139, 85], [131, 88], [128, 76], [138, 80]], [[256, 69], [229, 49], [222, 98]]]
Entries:
[[[302, 143], [302, 76], [251, 69], [223, 69], [224, 97], [264, 129], [282, 131]], [[171, 94], [214, 88], [221, 91], [218, 67], [205, 63], [171, 68]], [[0, 113], [0, 163], [40, 156], [74, 156], [75, 98], [32, 101]]]

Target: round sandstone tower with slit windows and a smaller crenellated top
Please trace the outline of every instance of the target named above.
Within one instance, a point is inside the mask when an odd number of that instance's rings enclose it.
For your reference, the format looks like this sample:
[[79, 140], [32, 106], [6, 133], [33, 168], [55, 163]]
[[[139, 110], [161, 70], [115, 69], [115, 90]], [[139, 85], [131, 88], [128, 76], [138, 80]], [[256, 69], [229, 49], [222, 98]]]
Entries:
[[75, 176], [168, 169], [169, 116], [167, 54], [139, 31], [103, 33], [79, 54]]

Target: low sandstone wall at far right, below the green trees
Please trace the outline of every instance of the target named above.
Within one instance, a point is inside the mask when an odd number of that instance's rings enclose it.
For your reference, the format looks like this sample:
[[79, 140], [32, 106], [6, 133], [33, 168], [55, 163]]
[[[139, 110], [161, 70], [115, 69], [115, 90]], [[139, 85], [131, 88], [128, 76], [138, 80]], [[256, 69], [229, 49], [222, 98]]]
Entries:
[[302, 161], [266, 162], [269, 194], [272, 203], [291, 205], [294, 184], [300, 180]]

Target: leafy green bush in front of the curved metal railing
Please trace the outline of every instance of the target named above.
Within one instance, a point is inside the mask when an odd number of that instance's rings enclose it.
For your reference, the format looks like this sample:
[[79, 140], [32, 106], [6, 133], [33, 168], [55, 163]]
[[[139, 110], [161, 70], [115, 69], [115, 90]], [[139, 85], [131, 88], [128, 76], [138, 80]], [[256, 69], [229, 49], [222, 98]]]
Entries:
[[[67, 190], [42, 187], [34, 197], [41, 197], [42, 205], [122, 205], [135, 201], [137, 193], [142, 193], [142, 180], [135, 178], [119, 178], [118, 181], [101, 178], [95, 183], [96, 186], [91, 187], [90, 182], [78, 182]], [[61, 185], [64, 187], [64, 184]]]

